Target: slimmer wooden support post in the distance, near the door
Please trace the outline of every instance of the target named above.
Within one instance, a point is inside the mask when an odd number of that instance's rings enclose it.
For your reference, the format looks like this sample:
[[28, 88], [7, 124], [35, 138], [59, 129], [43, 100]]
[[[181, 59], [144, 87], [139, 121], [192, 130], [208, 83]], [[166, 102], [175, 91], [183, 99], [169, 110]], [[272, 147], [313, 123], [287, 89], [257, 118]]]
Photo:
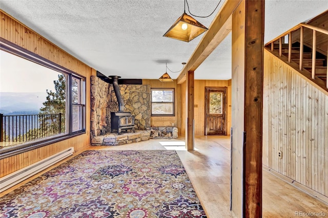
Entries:
[[186, 77], [186, 148], [194, 150], [194, 71], [188, 71]]

